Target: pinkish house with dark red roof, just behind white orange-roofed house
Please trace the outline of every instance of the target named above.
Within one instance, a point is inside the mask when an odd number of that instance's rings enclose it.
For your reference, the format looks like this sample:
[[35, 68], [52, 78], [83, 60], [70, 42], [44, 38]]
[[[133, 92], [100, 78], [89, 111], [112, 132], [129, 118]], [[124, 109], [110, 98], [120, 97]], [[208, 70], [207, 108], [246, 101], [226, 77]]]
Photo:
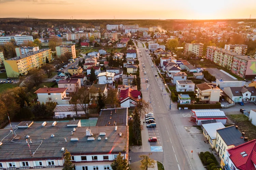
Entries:
[[66, 79], [58, 82], [59, 88], [67, 88], [66, 92], [76, 92], [81, 88], [80, 79]]

